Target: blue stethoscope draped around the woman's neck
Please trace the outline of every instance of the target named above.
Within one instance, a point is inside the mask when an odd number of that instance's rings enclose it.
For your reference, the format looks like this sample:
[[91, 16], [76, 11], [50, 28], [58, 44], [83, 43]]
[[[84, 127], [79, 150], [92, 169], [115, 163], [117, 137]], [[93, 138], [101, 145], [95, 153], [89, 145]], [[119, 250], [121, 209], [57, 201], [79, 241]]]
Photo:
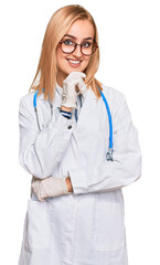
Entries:
[[[106, 99], [104, 93], [100, 91], [99, 87], [98, 87], [98, 89], [99, 89], [99, 93], [100, 93], [100, 95], [103, 97], [103, 100], [104, 100], [104, 103], [106, 105], [106, 109], [107, 109], [107, 114], [108, 114], [108, 123], [109, 123], [109, 147], [108, 147], [108, 151], [107, 151], [107, 155], [106, 155], [106, 159], [108, 161], [114, 161], [114, 159], [113, 159], [113, 120], [111, 120], [111, 114], [110, 114], [109, 105], [107, 103], [107, 99]], [[43, 92], [44, 92], [44, 88], [43, 88]], [[34, 94], [33, 106], [34, 106], [35, 115], [36, 115], [38, 126], [39, 126], [39, 129], [41, 130], [40, 123], [39, 123], [39, 116], [38, 116], [38, 108], [36, 108], [38, 93], [39, 93], [39, 91], [36, 91], [35, 94]], [[50, 103], [50, 107], [51, 107], [51, 115], [53, 115], [53, 104], [52, 104], [52, 102], [50, 99], [50, 96], [49, 96], [49, 103]]]

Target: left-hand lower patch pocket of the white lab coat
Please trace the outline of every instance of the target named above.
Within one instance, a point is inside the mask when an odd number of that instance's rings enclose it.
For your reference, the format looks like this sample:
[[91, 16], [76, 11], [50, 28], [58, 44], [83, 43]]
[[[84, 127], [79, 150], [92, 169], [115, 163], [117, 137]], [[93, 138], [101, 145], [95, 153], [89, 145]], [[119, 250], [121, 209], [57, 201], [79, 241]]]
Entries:
[[51, 204], [28, 200], [24, 246], [26, 251], [45, 250], [50, 246]]

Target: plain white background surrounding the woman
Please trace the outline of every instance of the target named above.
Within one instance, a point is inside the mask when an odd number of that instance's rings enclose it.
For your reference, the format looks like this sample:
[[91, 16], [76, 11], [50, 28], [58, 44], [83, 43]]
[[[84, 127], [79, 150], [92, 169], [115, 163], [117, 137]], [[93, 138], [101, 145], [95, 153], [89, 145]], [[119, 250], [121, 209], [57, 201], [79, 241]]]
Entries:
[[19, 165], [19, 100], [33, 81], [46, 24], [81, 3], [99, 32], [96, 77], [126, 95], [139, 131], [142, 177], [124, 188], [129, 265], [160, 264], [160, 8], [157, 0], [4, 1], [0, 7], [0, 263], [18, 264], [31, 176]]

